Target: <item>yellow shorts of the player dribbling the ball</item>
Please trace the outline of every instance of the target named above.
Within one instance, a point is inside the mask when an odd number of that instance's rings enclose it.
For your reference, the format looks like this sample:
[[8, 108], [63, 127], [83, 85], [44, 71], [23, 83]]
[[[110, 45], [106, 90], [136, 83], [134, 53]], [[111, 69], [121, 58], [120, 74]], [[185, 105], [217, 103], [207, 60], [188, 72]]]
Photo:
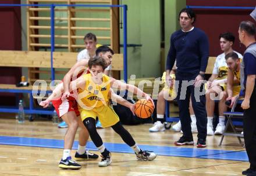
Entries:
[[111, 127], [119, 122], [119, 117], [111, 105], [102, 105], [101, 107], [91, 110], [79, 108], [79, 111], [82, 122], [86, 118], [94, 118], [96, 120], [96, 117], [98, 117], [104, 128]]

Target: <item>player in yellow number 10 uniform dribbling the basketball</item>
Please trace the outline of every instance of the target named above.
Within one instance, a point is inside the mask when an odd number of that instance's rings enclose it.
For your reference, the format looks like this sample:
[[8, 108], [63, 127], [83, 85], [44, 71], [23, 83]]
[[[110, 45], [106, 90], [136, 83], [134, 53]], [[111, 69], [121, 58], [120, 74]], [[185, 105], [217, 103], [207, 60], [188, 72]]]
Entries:
[[[120, 123], [118, 115], [116, 115], [115, 111], [113, 111], [112, 107], [109, 105], [109, 98], [111, 98], [112, 101], [116, 101], [119, 104], [130, 108], [134, 113], [134, 104], [131, 104], [129, 101], [113, 93], [111, 87], [120, 90], [132, 89], [133, 93], [141, 94], [142, 97], [152, 102], [150, 96], [133, 85], [122, 83], [104, 75], [103, 72], [106, 68], [106, 61], [101, 57], [90, 58], [88, 66], [91, 73], [84, 74], [80, 76], [80, 78], [72, 81], [69, 90], [76, 91], [77, 88], [79, 88], [77, 102], [80, 106], [79, 111], [81, 120], [87, 128], [91, 140], [102, 154], [102, 160], [98, 163], [98, 166], [108, 166], [112, 161], [111, 153], [105, 148], [95, 127], [95, 119], [97, 116], [103, 127], [112, 127], [112, 129], [120, 135], [122, 140], [136, 153], [138, 160], [154, 160], [157, 155], [155, 155], [154, 152], [142, 151], [138, 147], [133, 137], [131, 137], [130, 133]], [[60, 97], [63, 91], [63, 85], [58, 85], [51, 96], [47, 98], [46, 102], [51, 101], [53, 98]]]

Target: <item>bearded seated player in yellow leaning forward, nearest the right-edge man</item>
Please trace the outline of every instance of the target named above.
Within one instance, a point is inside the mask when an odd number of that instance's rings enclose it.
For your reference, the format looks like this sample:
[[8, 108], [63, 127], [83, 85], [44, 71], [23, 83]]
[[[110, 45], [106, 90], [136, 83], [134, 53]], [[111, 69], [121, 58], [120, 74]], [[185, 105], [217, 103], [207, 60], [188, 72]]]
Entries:
[[230, 108], [233, 107], [236, 96], [240, 93], [240, 63], [241, 58], [232, 52], [225, 56], [227, 67], [229, 71], [227, 73], [227, 99], [231, 100]]

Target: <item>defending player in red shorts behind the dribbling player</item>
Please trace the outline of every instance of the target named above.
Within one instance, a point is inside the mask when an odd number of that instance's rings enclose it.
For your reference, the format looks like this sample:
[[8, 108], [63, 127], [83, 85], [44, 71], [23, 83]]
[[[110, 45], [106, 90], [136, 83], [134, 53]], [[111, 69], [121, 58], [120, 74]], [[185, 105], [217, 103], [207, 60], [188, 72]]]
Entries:
[[[101, 56], [102, 58], [104, 58], [108, 65], [111, 64], [113, 51], [108, 46], [98, 47], [98, 49], [96, 50], [96, 54], [97, 56]], [[69, 72], [67, 72], [67, 74], [64, 76], [64, 85], [69, 84], [70, 80], [75, 80], [76, 78], [78, 78], [81, 74], [83, 74], [83, 72], [87, 72], [86, 67], [88, 65], [88, 60], [89, 58], [84, 58], [73, 65]], [[76, 99], [70, 96], [70, 93], [63, 94], [63, 97], [67, 98], [52, 100], [52, 104], [54, 105], [55, 111], [58, 114], [59, 118], [62, 118], [62, 120], [66, 122], [68, 126], [64, 138], [63, 156], [61, 162], [59, 163], [59, 167], [79, 169], [81, 168], [80, 164], [74, 162], [70, 156], [74, 137], [76, 135], [78, 127], [80, 127], [79, 146], [74, 156], [74, 159], [95, 160], [98, 159], [98, 155], [88, 153], [88, 151], [86, 151], [86, 143], [89, 138], [89, 134], [86, 127], [84, 127], [83, 123], [81, 122]]]

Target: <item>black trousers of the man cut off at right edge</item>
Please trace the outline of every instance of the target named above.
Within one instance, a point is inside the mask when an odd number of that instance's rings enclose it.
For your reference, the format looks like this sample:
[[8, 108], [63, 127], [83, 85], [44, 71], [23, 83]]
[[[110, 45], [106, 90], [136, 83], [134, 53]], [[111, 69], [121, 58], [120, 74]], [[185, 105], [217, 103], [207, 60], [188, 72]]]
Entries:
[[244, 143], [250, 168], [256, 169], [256, 89], [250, 98], [250, 108], [244, 110]]

